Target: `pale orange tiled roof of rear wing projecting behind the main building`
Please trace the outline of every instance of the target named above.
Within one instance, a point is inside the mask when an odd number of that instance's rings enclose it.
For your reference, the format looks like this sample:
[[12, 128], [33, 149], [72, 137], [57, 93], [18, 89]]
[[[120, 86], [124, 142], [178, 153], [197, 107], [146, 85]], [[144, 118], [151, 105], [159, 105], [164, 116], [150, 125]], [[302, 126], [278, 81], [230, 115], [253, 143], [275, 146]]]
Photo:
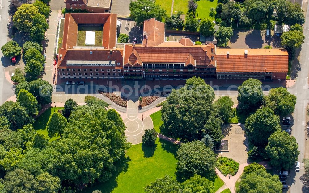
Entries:
[[157, 46], [165, 40], [165, 23], [151, 18], [144, 21], [143, 46]]

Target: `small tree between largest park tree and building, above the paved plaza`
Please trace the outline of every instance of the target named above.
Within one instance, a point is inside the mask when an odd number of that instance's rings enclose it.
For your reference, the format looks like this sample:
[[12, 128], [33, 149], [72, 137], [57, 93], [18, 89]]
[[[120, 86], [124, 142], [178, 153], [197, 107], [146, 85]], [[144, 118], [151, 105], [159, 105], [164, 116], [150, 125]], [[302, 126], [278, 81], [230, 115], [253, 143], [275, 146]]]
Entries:
[[222, 117], [224, 123], [229, 123], [230, 119], [233, 117], [232, 107], [234, 102], [228, 96], [222, 96], [218, 99], [219, 104], [219, 114]]

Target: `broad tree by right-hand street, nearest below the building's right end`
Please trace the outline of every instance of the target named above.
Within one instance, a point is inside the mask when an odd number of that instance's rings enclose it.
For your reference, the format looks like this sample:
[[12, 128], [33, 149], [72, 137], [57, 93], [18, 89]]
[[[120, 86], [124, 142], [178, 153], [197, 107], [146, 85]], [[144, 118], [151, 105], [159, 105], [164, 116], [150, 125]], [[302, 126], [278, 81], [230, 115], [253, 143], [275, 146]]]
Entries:
[[290, 94], [286, 88], [272, 88], [268, 96], [265, 97], [268, 97], [274, 103], [276, 115], [283, 117], [294, 112], [296, 96]]

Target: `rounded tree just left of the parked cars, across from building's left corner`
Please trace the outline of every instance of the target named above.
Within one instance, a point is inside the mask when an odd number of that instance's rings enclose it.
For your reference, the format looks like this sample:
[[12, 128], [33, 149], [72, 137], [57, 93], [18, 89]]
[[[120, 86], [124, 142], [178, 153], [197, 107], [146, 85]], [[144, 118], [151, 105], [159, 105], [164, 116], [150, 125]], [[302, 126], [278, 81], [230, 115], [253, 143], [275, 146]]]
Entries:
[[[26, 85], [23, 84], [23, 86]], [[53, 86], [50, 85], [46, 80], [39, 78], [29, 82], [28, 91], [36, 97], [36, 100], [41, 105], [49, 104], [52, 102]]]

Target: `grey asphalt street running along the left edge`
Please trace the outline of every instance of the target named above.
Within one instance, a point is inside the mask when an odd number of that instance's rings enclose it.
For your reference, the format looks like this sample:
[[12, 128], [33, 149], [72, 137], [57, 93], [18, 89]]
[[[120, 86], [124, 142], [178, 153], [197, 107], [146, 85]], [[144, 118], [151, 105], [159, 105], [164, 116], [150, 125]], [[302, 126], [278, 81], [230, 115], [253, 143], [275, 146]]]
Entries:
[[[0, 0], [1, 2], [1, 0]], [[7, 43], [7, 25], [9, 23], [9, 14], [7, 12], [10, 3], [8, 0], [2, 0], [2, 5], [0, 5], [0, 47]], [[0, 52], [1, 63], [3, 60], [2, 52]], [[4, 76], [3, 64], [0, 65], [0, 102], [3, 104], [9, 97], [14, 95], [14, 90], [12, 84], [10, 84]]]

